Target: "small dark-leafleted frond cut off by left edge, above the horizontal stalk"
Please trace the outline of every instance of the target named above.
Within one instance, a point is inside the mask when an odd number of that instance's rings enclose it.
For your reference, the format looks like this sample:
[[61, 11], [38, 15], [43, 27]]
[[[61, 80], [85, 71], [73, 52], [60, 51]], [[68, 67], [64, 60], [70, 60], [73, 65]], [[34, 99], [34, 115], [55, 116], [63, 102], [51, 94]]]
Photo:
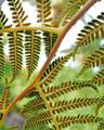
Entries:
[[8, 18], [5, 16], [5, 14], [3, 13], [3, 11], [1, 11], [1, 9], [0, 9], [0, 29], [2, 27], [4, 27], [6, 25], [6, 23], [8, 23]]

